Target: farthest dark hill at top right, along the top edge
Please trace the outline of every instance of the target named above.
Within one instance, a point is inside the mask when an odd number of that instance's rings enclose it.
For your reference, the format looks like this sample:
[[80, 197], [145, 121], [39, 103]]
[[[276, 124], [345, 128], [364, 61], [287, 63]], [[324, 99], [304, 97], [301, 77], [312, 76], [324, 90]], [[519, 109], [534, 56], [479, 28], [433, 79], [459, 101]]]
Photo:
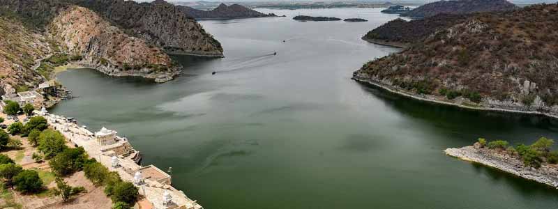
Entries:
[[506, 0], [451, 0], [435, 1], [427, 3], [418, 8], [414, 8], [407, 13], [402, 13], [404, 17], [432, 17], [441, 13], [444, 14], [468, 14], [489, 11], [506, 11], [517, 8], [513, 3]]

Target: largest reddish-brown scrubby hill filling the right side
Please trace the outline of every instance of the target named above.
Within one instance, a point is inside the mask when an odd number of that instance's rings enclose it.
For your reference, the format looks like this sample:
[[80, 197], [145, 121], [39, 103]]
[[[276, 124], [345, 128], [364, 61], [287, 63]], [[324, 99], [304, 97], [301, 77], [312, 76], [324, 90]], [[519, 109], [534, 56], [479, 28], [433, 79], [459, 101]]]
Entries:
[[462, 107], [558, 116], [557, 28], [557, 4], [479, 13], [365, 63], [354, 79]]

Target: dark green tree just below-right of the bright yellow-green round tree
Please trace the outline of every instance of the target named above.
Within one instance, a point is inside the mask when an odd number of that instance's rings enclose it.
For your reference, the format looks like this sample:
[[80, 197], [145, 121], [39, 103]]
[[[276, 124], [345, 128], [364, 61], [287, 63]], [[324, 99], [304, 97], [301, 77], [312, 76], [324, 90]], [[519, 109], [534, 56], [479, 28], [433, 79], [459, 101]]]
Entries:
[[68, 176], [75, 171], [80, 171], [87, 160], [83, 148], [66, 148], [50, 160], [50, 168], [58, 176]]

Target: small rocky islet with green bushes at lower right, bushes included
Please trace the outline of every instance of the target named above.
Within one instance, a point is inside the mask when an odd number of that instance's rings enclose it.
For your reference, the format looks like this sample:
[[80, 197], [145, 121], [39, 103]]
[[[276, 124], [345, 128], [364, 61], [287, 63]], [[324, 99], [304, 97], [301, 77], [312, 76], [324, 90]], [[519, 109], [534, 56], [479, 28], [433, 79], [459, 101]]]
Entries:
[[477, 162], [558, 189], [558, 150], [554, 141], [542, 137], [529, 146], [508, 146], [508, 141], [478, 139], [473, 146], [447, 148], [446, 155]]

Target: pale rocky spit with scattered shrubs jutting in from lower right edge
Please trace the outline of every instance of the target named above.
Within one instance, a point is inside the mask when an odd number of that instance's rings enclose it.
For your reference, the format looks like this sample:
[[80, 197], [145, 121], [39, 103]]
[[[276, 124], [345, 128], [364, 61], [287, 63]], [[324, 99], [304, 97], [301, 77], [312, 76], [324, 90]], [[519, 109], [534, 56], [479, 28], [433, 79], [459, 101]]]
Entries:
[[[504, 142], [504, 144], [506, 143]], [[533, 146], [534, 145], [525, 147], [531, 148], [534, 153], [540, 152], [534, 149]], [[475, 143], [474, 146], [447, 148], [444, 150], [446, 155], [458, 157], [461, 160], [480, 163], [558, 189], [558, 166], [555, 164], [556, 162], [548, 162], [550, 156], [541, 156], [541, 162], [539, 162], [540, 164], [538, 166], [527, 166], [525, 157], [527, 157], [529, 151], [525, 151], [523, 156], [520, 152], [521, 150], [519, 150], [519, 148], [504, 148], [503, 146], [497, 147], [497, 145], [491, 148], [490, 146], [483, 146], [480, 142]]]

